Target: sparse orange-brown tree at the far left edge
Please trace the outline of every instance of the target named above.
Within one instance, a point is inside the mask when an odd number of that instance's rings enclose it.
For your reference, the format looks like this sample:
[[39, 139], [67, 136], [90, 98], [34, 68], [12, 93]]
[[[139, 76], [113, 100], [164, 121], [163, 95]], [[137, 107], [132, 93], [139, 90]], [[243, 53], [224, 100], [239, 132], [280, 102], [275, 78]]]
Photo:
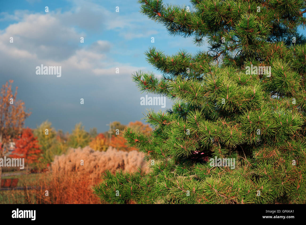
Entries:
[[[24, 102], [17, 101], [18, 87], [13, 93], [12, 83], [13, 80], [6, 82], [0, 90], [0, 158], [3, 158], [7, 152], [3, 147], [21, 134], [24, 120], [30, 115], [29, 112], [25, 112]], [[0, 167], [0, 183], [1, 174], [2, 167]]]

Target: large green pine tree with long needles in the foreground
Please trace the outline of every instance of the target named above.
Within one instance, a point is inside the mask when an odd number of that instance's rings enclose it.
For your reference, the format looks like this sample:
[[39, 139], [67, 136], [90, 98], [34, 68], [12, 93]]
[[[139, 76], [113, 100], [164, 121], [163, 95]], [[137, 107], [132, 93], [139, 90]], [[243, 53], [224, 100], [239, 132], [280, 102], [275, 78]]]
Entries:
[[175, 101], [167, 112], [147, 112], [150, 136], [124, 133], [151, 170], [107, 171], [94, 193], [109, 203], [305, 203], [306, 44], [298, 29], [306, 2], [139, 3], [171, 35], [210, 47], [146, 52], [163, 77], [137, 71], [133, 80]]

